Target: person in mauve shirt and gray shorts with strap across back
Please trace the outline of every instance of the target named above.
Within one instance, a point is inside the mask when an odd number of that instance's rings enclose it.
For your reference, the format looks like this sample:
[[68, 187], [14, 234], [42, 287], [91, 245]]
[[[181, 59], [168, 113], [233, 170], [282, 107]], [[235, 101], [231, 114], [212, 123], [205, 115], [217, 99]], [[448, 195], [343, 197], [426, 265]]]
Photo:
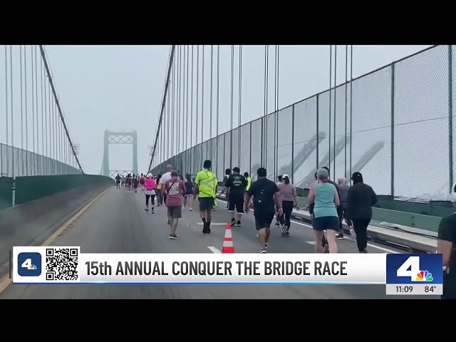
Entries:
[[171, 172], [170, 180], [165, 182], [166, 206], [168, 222], [171, 226], [170, 239], [177, 239], [176, 229], [179, 219], [182, 217], [182, 200], [185, 194], [184, 182], [179, 179], [177, 171]]

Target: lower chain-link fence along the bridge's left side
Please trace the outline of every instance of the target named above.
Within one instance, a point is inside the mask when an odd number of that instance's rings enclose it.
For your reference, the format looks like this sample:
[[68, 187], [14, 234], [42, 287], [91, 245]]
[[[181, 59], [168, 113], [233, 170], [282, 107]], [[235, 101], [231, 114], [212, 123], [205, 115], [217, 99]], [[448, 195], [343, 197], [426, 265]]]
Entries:
[[58, 160], [0, 144], [1, 177], [78, 175], [81, 171]]

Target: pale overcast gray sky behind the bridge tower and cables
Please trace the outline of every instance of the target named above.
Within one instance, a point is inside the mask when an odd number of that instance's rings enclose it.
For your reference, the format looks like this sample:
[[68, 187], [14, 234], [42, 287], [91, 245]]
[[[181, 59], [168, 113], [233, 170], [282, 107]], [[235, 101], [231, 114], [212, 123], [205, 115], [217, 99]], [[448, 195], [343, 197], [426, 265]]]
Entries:
[[[427, 46], [354, 46], [353, 77], [419, 51]], [[190, 47], [191, 50], [191, 47]], [[214, 51], [217, 47], [214, 46]], [[196, 69], [196, 46], [195, 69]], [[220, 48], [219, 133], [230, 128], [231, 47]], [[234, 126], [238, 125], [238, 52], [235, 48]], [[140, 172], [148, 162], [162, 100], [170, 46], [46, 46], [48, 61], [61, 105], [80, 159], [88, 173], [98, 174], [103, 160], [104, 130], [136, 130]], [[19, 46], [14, 46], [14, 103], [19, 100]], [[210, 46], [204, 47], [204, 125], [209, 125]], [[217, 56], [214, 52], [214, 56]], [[243, 46], [242, 123], [264, 113], [264, 46]], [[9, 61], [9, 60], [8, 60]], [[17, 61], [17, 63], [16, 63]], [[6, 142], [5, 74], [0, 53], [0, 142]], [[9, 62], [8, 62], [9, 63]], [[269, 48], [269, 110], [274, 110], [274, 46]], [[200, 73], [202, 46], [200, 46]], [[338, 46], [337, 83], [345, 81], [345, 46]], [[196, 70], [195, 70], [196, 73]], [[215, 63], [214, 63], [215, 73]], [[348, 70], [350, 73], [350, 70]], [[215, 76], [214, 76], [215, 77]], [[16, 81], [17, 80], [17, 81]], [[196, 85], [196, 83], [195, 83]], [[281, 46], [279, 55], [279, 108], [329, 87], [329, 46]], [[200, 90], [201, 91], [201, 90]], [[214, 91], [214, 89], [213, 89]], [[215, 96], [214, 96], [215, 98]], [[196, 101], [195, 101], [196, 102]], [[20, 102], [19, 102], [20, 104]], [[20, 105], [15, 105], [18, 110]], [[14, 112], [14, 145], [21, 147], [20, 113]], [[199, 120], [201, 120], [199, 118]], [[201, 122], [201, 121], [199, 121]], [[9, 122], [11, 125], [11, 121]], [[204, 130], [204, 140], [211, 130]], [[212, 127], [212, 137], [217, 127]], [[188, 138], [190, 140], [190, 137]], [[196, 135], [193, 134], [193, 143]], [[201, 136], [198, 136], [198, 142]], [[11, 137], [8, 141], [11, 144]], [[182, 144], [180, 150], [187, 146]], [[130, 169], [130, 146], [110, 148], [110, 168]]]

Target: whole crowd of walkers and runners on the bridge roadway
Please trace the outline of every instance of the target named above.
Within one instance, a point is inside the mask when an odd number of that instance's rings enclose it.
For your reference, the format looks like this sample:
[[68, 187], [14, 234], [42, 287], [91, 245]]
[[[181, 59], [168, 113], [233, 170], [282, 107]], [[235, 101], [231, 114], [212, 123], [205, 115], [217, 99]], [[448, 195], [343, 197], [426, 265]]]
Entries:
[[[198, 199], [199, 216], [203, 222], [203, 234], [211, 233], [212, 210], [217, 203], [217, 177], [211, 171], [212, 162], [204, 161], [203, 168], [192, 180], [190, 174], [182, 177], [179, 171], [167, 165], [167, 172], [161, 175], [117, 175], [118, 189], [125, 187], [127, 192], [145, 192], [145, 211], [154, 213], [155, 198], [157, 206], [167, 206], [167, 224], [170, 226], [170, 239], [177, 239], [177, 227], [183, 209], [192, 211], [193, 201]], [[266, 253], [271, 236], [271, 223], [281, 227], [281, 236], [290, 237], [291, 215], [299, 209], [296, 188], [291, 184], [289, 175], [280, 175], [273, 182], [266, 177], [266, 169], [257, 170], [257, 180], [252, 182], [248, 172], [242, 175], [239, 167], [225, 170], [222, 193], [227, 198], [227, 209], [231, 213], [232, 227], [242, 226], [242, 214], [254, 211], [255, 227], [260, 242], [260, 253]], [[329, 178], [328, 167], [315, 172], [315, 181], [309, 189], [307, 207], [315, 236], [316, 253], [337, 253], [336, 239], [343, 239], [343, 221], [356, 239], [358, 252], [367, 253], [367, 229], [371, 222], [372, 207], [377, 196], [371, 186], [363, 180], [361, 172], [353, 172], [348, 185], [344, 177], [336, 182]], [[456, 207], [456, 184], [453, 185], [450, 201]], [[456, 213], [455, 213], [456, 214]], [[446, 267], [444, 286], [446, 298], [456, 298], [456, 215], [445, 217], [440, 222], [437, 252], [443, 255]]]

